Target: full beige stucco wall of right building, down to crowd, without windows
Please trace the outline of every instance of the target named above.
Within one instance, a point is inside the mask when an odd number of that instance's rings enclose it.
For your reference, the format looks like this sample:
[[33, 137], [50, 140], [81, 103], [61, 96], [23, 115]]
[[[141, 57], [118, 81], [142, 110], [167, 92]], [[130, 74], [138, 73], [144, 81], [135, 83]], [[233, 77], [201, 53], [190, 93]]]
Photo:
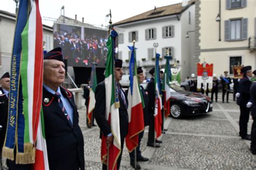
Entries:
[[[254, 37], [256, 1], [247, 0], [247, 6], [241, 9], [227, 10], [226, 1], [221, 0], [221, 41], [219, 41], [219, 23], [215, 21], [219, 13], [218, 0], [200, 0], [200, 55], [201, 62], [213, 63], [213, 72], [220, 76], [230, 69], [230, 56], [242, 56], [242, 65], [256, 68], [256, 51], [250, 52], [248, 39], [225, 41], [225, 20], [248, 18], [247, 38]], [[207, 51], [207, 52], [205, 52]]]

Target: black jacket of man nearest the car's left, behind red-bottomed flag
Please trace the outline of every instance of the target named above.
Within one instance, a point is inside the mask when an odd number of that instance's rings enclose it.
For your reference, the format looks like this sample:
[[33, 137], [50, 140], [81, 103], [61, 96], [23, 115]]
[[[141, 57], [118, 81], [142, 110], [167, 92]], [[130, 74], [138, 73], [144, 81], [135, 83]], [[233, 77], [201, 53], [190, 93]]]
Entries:
[[154, 103], [156, 100], [156, 91], [154, 91], [154, 78], [150, 79], [147, 84], [147, 94], [149, 96], [149, 115], [150, 117], [154, 115]]

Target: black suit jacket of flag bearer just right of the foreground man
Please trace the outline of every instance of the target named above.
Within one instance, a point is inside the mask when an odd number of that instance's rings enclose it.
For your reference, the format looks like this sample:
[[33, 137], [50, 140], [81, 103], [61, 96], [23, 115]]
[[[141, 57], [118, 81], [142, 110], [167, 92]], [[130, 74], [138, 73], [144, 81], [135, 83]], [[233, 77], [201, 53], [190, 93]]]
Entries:
[[[100, 136], [102, 133], [104, 134], [104, 136], [107, 136], [107, 134], [111, 133], [111, 127], [105, 118], [106, 95], [105, 95], [104, 81], [100, 82], [96, 87], [95, 100], [96, 100], [96, 103], [95, 103], [95, 109], [93, 110], [93, 115], [95, 115], [96, 122], [100, 128]], [[128, 102], [126, 95], [125, 95], [125, 100], [126, 102]], [[119, 108], [120, 136], [121, 138], [125, 138], [128, 133], [128, 113], [120, 95], [119, 95], [119, 102], [120, 102], [120, 108]]]

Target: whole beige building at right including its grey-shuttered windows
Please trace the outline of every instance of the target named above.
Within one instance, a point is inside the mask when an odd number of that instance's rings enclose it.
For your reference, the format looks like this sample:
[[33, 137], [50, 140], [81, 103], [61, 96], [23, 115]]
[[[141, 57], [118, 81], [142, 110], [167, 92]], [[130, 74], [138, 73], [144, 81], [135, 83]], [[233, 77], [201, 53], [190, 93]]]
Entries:
[[233, 75], [234, 65], [256, 67], [256, 1], [196, 1], [196, 58], [213, 73]]

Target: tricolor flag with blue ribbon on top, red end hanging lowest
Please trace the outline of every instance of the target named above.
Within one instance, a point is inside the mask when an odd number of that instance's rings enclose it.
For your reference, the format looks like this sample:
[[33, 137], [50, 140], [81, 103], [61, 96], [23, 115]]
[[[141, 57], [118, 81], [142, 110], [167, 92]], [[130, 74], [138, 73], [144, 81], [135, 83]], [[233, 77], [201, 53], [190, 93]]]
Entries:
[[129, 117], [129, 131], [125, 138], [126, 146], [129, 152], [138, 146], [139, 133], [144, 130], [143, 117], [143, 100], [139, 88], [137, 77], [137, 64], [134, 46], [129, 47], [132, 51], [130, 60], [130, 88], [128, 91], [128, 117]]

